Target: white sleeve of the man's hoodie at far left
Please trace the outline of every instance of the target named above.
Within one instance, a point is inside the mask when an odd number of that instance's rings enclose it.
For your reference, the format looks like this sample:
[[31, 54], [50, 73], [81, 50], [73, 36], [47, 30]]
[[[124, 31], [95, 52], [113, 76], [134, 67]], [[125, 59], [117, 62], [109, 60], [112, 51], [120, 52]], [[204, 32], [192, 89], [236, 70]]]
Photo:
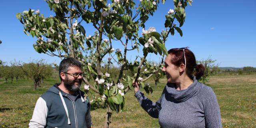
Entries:
[[36, 102], [32, 119], [28, 124], [29, 128], [44, 128], [46, 126], [47, 114], [48, 108], [46, 102], [40, 97]]

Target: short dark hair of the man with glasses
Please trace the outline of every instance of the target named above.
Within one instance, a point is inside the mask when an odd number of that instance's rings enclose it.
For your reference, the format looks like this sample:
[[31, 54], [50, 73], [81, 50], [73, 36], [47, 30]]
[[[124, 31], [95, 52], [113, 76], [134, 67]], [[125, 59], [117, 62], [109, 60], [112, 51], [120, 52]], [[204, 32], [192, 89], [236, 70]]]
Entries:
[[[82, 64], [75, 58], [72, 58], [72, 57], [64, 58], [60, 62], [59, 76], [61, 72], [68, 72], [69, 67], [78, 67], [82, 69]], [[61, 76], [60, 76], [60, 80], [62, 80]]]

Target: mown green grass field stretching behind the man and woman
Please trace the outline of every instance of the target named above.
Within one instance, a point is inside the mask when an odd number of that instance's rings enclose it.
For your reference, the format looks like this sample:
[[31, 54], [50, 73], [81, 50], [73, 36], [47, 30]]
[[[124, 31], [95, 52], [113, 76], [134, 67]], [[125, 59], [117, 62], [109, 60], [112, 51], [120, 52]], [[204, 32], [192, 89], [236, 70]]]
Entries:
[[[27, 128], [36, 100], [58, 77], [46, 80], [33, 91], [31, 80], [5, 82], [0, 79], [0, 128]], [[150, 85], [154, 85], [149, 81]], [[148, 98], [158, 100], [166, 84], [161, 79]], [[256, 74], [241, 76], [213, 76], [207, 84], [218, 98], [222, 125], [226, 128], [256, 128]], [[111, 128], [159, 128], [158, 119], [151, 118], [138, 104], [133, 90], [125, 95], [126, 106], [122, 113], [113, 113]], [[105, 109], [92, 110], [94, 128], [103, 128]]]

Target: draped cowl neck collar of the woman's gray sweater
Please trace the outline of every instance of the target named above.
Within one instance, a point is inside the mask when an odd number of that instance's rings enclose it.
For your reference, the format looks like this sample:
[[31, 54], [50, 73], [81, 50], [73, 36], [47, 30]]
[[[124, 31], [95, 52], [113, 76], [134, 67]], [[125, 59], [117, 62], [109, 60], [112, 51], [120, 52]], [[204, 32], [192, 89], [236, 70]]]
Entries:
[[193, 83], [184, 90], [176, 90], [174, 83], [167, 83], [166, 91], [176, 102], [184, 102], [189, 98], [196, 96], [200, 92], [203, 84], [198, 82], [195, 77], [193, 77]]

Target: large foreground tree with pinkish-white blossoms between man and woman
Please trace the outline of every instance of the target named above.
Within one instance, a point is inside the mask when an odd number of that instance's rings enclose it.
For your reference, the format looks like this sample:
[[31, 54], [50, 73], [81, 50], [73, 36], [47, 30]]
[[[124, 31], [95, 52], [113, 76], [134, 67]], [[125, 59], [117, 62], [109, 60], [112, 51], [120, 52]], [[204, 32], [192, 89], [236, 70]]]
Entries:
[[[165, 2], [165, 0], [161, 1]], [[143, 82], [158, 71], [156, 66], [147, 62], [146, 57], [149, 53], [159, 54], [162, 57], [167, 54], [165, 42], [170, 34], [174, 35], [174, 30], [182, 36], [180, 27], [185, 21], [185, 7], [191, 4], [192, 0], [173, 0], [174, 8], [165, 15], [166, 31], [160, 33], [154, 27], [145, 29], [146, 21], [149, 16], [153, 16], [160, 0], [46, 0], [46, 2], [56, 16], [45, 17], [40, 10], [29, 9], [17, 13], [16, 17], [24, 25], [25, 34], [37, 38], [33, 46], [38, 53], [60, 58], [70, 56], [84, 64], [83, 72], [87, 74], [83, 78], [86, 83], [84, 91], [86, 96], [93, 95], [92, 104], [103, 102], [107, 106], [104, 125], [108, 128], [112, 111], [120, 112], [124, 109], [124, 95], [130, 90], [133, 80], [138, 80], [146, 92], [152, 92], [152, 88], [144, 85]], [[95, 34], [86, 36], [86, 29], [82, 24], [92, 25], [96, 30]], [[143, 29], [142, 34], [138, 33], [139, 28]], [[123, 48], [115, 50], [112, 46], [113, 42], [120, 42]], [[143, 56], [136, 56], [133, 62], [128, 61], [127, 52], [133, 50], [139, 52], [139, 48], [142, 48]], [[120, 66], [117, 80], [113, 80], [108, 72], [102, 72], [103, 60], [108, 64], [115, 63]], [[147, 70], [141, 72], [142, 66]], [[124, 70], [134, 69], [138, 69], [134, 76], [123, 74]], [[150, 75], [143, 79], [140, 77], [141, 73]]]

